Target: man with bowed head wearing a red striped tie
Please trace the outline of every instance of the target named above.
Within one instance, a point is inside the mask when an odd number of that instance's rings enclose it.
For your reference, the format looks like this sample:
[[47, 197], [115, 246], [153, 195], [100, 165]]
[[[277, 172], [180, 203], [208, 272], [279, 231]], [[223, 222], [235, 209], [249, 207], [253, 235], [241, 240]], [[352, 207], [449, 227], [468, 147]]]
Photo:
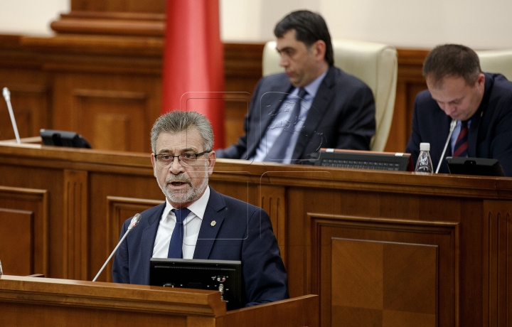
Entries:
[[[423, 64], [428, 90], [420, 92], [406, 152], [417, 160], [420, 143], [430, 143], [434, 170], [448, 173], [447, 156], [497, 159], [512, 176], [512, 82], [482, 73], [478, 55], [464, 45], [439, 45]], [[441, 158], [452, 120], [457, 121]]]

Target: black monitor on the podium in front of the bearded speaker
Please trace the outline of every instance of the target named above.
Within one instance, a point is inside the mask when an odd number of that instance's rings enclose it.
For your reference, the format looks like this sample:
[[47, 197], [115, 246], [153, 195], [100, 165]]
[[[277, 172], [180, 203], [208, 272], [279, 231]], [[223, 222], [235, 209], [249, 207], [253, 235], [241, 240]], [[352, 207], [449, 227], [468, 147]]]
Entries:
[[242, 306], [242, 262], [151, 258], [149, 284], [221, 291], [226, 309]]

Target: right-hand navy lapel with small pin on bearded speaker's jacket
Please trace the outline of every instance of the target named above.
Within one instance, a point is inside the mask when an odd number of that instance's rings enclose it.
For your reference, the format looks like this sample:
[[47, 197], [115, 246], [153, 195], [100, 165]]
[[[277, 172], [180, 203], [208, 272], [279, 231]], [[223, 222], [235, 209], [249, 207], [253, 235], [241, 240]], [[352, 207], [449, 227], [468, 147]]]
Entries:
[[196, 250], [193, 255], [194, 259], [208, 259], [210, 256], [213, 243], [224, 221], [224, 209], [224, 199], [220, 196], [220, 193], [210, 187], [210, 198], [208, 199], [201, 229], [199, 230]]

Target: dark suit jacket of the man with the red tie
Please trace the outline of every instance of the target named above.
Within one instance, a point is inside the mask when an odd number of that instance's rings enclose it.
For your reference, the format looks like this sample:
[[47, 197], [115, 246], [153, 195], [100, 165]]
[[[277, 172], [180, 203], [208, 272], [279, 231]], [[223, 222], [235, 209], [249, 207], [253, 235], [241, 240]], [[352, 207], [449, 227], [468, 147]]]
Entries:
[[[452, 118], [444, 114], [430, 92], [416, 96], [412, 114], [412, 133], [406, 152], [417, 161], [420, 143], [430, 143], [434, 171], [441, 159]], [[445, 158], [452, 156], [448, 144], [439, 173], [449, 173]], [[485, 91], [479, 109], [471, 117], [468, 134], [468, 156], [498, 159], [506, 176], [512, 176], [512, 82], [503, 75], [485, 73]]]

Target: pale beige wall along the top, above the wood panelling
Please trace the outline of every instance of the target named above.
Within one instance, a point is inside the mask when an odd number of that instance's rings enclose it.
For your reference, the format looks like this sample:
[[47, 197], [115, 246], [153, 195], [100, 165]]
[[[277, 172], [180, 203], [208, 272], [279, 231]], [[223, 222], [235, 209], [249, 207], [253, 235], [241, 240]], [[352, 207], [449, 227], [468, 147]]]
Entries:
[[[69, 0], [1, 2], [0, 33], [50, 34], [50, 21], [70, 8]], [[304, 8], [320, 12], [334, 38], [412, 48], [447, 42], [512, 48], [510, 0], [220, 0], [223, 41], [270, 40], [282, 16]]]

